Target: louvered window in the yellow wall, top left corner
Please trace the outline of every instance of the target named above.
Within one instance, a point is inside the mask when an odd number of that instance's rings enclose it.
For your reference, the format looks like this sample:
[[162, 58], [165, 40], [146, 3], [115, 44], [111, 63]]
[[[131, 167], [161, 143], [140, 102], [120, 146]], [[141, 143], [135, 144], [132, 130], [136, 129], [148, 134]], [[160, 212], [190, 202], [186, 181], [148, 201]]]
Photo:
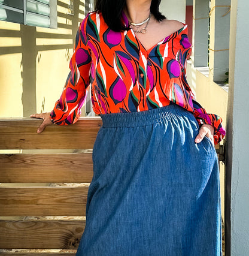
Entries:
[[0, 20], [57, 28], [56, 0], [0, 0]]

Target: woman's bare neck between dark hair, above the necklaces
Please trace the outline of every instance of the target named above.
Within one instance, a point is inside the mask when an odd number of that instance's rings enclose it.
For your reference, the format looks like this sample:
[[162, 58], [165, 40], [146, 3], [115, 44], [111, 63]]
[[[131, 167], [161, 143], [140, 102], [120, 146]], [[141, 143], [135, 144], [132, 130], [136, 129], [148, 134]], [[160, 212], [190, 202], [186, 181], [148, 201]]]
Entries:
[[126, 0], [125, 13], [130, 22], [143, 22], [150, 15], [151, 0]]

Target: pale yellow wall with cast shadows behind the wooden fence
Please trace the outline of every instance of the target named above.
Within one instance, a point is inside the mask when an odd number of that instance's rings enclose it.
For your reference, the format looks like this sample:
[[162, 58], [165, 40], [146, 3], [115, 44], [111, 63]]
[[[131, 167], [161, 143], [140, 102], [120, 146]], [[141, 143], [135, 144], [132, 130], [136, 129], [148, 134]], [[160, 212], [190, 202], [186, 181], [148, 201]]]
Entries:
[[57, 29], [0, 21], [0, 116], [48, 112], [69, 73], [74, 37], [84, 18], [84, 1], [57, 2]]

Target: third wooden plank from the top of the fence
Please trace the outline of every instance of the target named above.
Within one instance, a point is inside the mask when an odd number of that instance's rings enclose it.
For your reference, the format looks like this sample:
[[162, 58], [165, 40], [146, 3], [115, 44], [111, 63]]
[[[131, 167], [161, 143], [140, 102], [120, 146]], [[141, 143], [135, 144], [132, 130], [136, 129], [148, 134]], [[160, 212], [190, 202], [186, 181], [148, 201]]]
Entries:
[[83, 216], [87, 186], [0, 187], [0, 216]]

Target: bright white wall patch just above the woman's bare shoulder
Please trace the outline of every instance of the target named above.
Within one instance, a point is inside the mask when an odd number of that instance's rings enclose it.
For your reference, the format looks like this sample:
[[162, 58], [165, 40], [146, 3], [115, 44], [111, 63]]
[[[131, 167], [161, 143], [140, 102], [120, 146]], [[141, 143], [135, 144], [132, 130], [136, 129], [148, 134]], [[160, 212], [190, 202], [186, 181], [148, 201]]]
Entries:
[[179, 20], [185, 23], [186, 17], [186, 0], [162, 0], [160, 11], [169, 20]]

